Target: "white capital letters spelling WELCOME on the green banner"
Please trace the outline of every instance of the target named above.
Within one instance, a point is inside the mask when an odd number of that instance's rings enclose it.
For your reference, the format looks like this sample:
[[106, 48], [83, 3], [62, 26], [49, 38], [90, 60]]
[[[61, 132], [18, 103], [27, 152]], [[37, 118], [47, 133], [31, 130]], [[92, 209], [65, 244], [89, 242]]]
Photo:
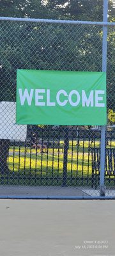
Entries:
[[[89, 92], [89, 96], [86, 95], [85, 90], [82, 90], [82, 92], [78, 92], [77, 90], [72, 90], [68, 94], [65, 90], [59, 90], [56, 93], [54, 102], [50, 100], [50, 89], [31, 89], [30, 92], [28, 92], [27, 89], [25, 89], [22, 92], [22, 89], [19, 88], [19, 99], [21, 106], [24, 106], [27, 100], [28, 106], [31, 106], [31, 102], [33, 100], [35, 106], [52, 106], [55, 107], [56, 103], [63, 107], [66, 104], [70, 104], [72, 107], [76, 107], [79, 104], [81, 104], [82, 107], [97, 107], [97, 108], [104, 108], [104, 90], [91, 90]], [[61, 100], [61, 95], [63, 95], [64, 99]], [[76, 97], [76, 100], [72, 99], [72, 96], [74, 95], [74, 98]]]

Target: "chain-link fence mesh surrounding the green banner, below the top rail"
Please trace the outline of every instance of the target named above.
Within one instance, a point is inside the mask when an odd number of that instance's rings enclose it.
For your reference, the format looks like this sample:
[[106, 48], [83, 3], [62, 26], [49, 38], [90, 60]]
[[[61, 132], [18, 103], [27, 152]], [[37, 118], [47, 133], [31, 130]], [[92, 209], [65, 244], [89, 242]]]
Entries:
[[[86, 22], [87, 23], [87, 22]], [[1, 195], [98, 198], [100, 127], [16, 125], [17, 69], [102, 71], [103, 26], [1, 20]], [[108, 27], [107, 111], [114, 113], [114, 26]], [[115, 129], [105, 141], [105, 196], [115, 196]]]

